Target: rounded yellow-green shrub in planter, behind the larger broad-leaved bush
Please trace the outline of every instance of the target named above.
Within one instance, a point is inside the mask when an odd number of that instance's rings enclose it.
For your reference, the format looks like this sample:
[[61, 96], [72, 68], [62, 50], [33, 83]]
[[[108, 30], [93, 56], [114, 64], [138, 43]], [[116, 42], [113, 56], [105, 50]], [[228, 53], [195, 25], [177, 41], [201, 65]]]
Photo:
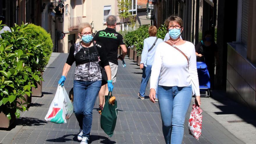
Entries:
[[[44, 67], [48, 64], [49, 58], [52, 53], [53, 43], [51, 40], [51, 35], [45, 31], [41, 26], [36, 26], [34, 24], [28, 24], [27, 30], [28, 33], [31, 34], [31, 38], [38, 40], [38, 43], [41, 44], [41, 47], [45, 49], [45, 53], [38, 57], [39, 63], [36, 65], [38, 67], [38, 71], [43, 74]], [[42, 81], [36, 83], [35, 88], [32, 88], [32, 96], [41, 97], [42, 96]]]

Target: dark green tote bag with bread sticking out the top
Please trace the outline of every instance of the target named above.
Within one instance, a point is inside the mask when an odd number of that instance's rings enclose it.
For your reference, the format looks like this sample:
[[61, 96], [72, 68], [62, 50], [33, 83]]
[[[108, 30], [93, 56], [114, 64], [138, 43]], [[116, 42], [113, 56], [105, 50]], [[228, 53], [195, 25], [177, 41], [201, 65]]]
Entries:
[[111, 95], [110, 93], [105, 95], [105, 105], [100, 117], [100, 126], [109, 137], [113, 136], [117, 120], [117, 101], [115, 101], [114, 105], [109, 104], [111, 97], [112, 93]]

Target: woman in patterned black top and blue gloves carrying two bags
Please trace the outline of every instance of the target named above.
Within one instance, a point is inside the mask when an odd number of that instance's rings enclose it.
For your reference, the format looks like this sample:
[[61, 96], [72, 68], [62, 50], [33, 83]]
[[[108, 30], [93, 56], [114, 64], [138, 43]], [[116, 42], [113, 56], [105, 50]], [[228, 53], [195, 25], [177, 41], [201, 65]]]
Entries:
[[81, 42], [70, 47], [70, 53], [63, 67], [63, 73], [59, 84], [64, 85], [71, 65], [76, 62], [74, 76], [74, 113], [79, 123], [80, 132], [78, 140], [81, 144], [87, 144], [93, 119], [93, 106], [101, 88], [102, 73], [104, 67], [108, 78], [109, 91], [113, 90], [111, 70], [108, 58], [104, 52], [104, 46], [92, 41], [92, 28], [89, 23], [79, 25], [79, 38]]

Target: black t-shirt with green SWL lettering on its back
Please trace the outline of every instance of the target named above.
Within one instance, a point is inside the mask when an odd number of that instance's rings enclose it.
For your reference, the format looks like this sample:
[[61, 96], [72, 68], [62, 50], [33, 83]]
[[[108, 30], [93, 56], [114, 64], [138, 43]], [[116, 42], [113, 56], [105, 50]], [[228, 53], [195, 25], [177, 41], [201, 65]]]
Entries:
[[115, 29], [106, 28], [102, 31], [98, 31], [93, 40], [101, 42], [105, 47], [109, 62], [118, 65], [118, 47], [119, 45], [125, 45], [123, 42], [123, 36], [116, 32]]

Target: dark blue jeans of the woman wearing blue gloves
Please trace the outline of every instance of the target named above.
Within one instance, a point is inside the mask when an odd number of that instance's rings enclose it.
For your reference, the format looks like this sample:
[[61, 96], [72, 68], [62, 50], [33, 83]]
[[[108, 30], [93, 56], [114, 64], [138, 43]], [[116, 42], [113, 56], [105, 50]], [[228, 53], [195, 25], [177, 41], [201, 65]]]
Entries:
[[93, 106], [101, 88], [101, 81], [74, 80], [74, 113], [83, 129], [83, 135], [90, 135], [93, 121]]

